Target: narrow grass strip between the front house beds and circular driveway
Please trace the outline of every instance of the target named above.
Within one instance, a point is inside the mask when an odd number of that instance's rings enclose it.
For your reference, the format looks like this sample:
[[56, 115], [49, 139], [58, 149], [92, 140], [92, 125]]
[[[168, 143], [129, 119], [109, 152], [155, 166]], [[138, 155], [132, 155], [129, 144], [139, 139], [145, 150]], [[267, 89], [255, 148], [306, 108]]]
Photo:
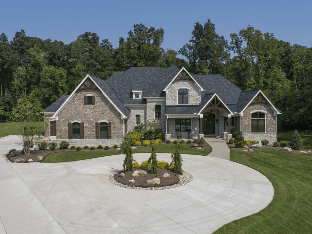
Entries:
[[[169, 153], [172, 154], [175, 149], [174, 144], [161, 144], [157, 146], [156, 153]], [[197, 155], [207, 155], [212, 151], [212, 149], [192, 149], [190, 145], [181, 145], [181, 154], [197, 154]], [[151, 153], [151, 147], [144, 147], [140, 149], [133, 150], [133, 153]], [[84, 160], [89, 158], [99, 158], [109, 155], [121, 154], [119, 151], [97, 151], [97, 152], [57, 152], [46, 156], [42, 163], [61, 163], [70, 162], [77, 160]]]

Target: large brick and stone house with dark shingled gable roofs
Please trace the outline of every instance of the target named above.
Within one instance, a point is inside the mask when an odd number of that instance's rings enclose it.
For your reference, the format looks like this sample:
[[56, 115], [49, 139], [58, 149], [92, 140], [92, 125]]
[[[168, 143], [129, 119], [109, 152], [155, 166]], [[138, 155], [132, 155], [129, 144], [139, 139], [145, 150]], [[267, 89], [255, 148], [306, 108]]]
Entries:
[[45, 109], [45, 136], [72, 145], [120, 144], [138, 121], [154, 119], [165, 139], [231, 137], [276, 140], [280, 111], [261, 90], [244, 91], [219, 74], [185, 68], [133, 67], [108, 80], [88, 74], [71, 93]]

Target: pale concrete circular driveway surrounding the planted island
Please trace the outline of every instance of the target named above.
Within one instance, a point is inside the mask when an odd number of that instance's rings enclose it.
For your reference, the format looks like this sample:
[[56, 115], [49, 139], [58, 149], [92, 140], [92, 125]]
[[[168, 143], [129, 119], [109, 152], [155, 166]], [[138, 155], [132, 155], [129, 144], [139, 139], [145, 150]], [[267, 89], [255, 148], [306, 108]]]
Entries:
[[[16, 146], [0, 138], [0, 153]], [[214, 149], [215, 150], [215, 149]], [[170, 154], [157, 154], [170, 161]], [[134, 154], [140, 163], [149, 154]], [[183, 154], [193, 181], [143, 191], [108, 181], [124, 156], [68, 163], [7, 163], [0, 158], [0, 233], [211, 233], [256, 213], [274, 190], [261, 173], [228, 160]]]

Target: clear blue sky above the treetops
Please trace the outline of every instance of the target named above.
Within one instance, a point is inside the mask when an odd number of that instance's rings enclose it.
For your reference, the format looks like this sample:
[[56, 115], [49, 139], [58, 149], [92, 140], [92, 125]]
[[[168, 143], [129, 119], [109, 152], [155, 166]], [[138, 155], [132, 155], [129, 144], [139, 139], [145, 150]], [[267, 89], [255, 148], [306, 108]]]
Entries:
[[163, 28], [162, 47], [179, 50], [191, 38], [196, 22], [208, 18], [219, 35], [230, 41], [248, 25], [274, 33], [279, 40], [311, 47], [312, 1], [1, 1], [0, 32], [12, 40], [15, 32], [64, 43], [78, 35], [96, 32], [100, 40], [118, 46], [134, 24]]

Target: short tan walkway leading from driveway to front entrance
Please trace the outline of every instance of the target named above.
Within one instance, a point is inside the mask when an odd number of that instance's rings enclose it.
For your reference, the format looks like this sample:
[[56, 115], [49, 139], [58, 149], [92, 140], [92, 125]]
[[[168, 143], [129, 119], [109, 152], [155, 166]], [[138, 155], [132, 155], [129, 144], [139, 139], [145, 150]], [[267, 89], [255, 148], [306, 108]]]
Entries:
[[205, 137], [204, 139], [212, 148], [212, 152], [208, 154], [209, 157], [230, 160], [230, 149], [226, 140], [217, 137]]

